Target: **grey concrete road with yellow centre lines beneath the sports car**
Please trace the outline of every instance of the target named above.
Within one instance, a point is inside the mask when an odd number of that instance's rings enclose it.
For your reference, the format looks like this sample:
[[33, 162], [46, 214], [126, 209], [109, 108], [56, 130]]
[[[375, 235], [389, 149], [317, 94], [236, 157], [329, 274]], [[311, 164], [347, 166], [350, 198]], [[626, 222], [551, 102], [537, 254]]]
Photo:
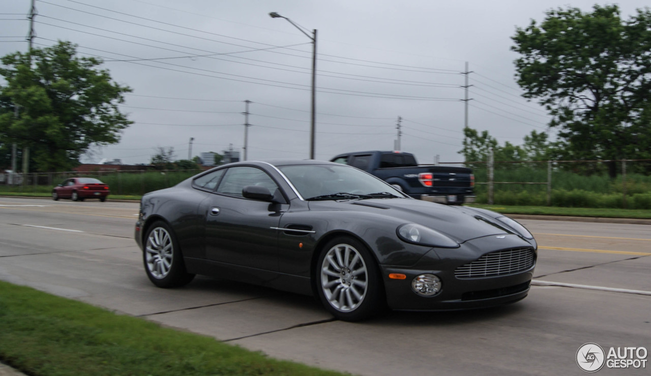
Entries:
[[136, 216], [135, 203], [0, 197], [0, 280], [360, 375], [582, 375], [584, 343], [651, 351], [651, 225], [519, 220], [540, 245], [525, 300], [346, 323], [314, 298], [254, 285], [154, 287], [132, 239]]

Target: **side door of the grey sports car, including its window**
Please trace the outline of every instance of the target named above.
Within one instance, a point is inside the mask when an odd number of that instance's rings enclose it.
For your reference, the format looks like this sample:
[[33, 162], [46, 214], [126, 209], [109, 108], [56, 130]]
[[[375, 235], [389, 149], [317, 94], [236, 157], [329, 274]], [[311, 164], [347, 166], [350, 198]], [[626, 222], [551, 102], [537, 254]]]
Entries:
[[206, 212], [206, 259], [263, 270], [277, 270], [280, 218], [288, 205], [247, 199], [245, 186], [264, 186], [273, 194], [278, 184], [262, 169], [227, 169], [215, 194], [202, 203]]

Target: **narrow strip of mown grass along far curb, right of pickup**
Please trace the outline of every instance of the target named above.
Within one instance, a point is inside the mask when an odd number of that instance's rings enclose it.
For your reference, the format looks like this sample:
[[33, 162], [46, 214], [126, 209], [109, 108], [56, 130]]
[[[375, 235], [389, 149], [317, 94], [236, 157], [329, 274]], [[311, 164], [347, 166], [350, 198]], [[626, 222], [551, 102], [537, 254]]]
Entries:
[[570, 208], [546, 206], [517, 206], [517, 205], [488, 205], [469, 204], [467, 206], [501, 212], [502, 214], [531, 214], [546, 216], [575, 216], [598, 218], [635, 218], [651, 219], [651, 210], [646, 209], [599, 209], [599, 208]]

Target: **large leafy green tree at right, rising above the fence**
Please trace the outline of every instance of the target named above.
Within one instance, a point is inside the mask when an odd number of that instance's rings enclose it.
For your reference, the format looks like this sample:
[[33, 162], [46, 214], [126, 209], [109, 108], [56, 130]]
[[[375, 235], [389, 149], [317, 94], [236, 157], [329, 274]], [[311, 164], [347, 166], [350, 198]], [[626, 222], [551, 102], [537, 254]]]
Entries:
[[[512, 39], [523, 95], [546, 106], [566, 158], [651, 158], [648, 8], [628, 20], [617, 5], [549, 10]], [[615, 177], [615, 162], [609, 173]]]

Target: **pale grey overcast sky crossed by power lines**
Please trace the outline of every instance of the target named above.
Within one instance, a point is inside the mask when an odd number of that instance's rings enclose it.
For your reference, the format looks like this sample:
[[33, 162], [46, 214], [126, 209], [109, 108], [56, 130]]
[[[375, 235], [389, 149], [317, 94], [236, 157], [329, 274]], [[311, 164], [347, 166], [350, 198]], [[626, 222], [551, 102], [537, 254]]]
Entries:
[[[31, 0], [0, 2], [0, 55], [27, 51]], [[309, 157], [312, 44], [277, 12], [317, 29], [316, 158], [392, 150], [419, 162], [463, 156], [465, 62], [469, 126], [504, 143], [546, 131], [545, 111], [521, 98], [510, 51], [516, 27], [583, 0], [46, 0], [36, 1], [35, 47], [57, 40], [104, 59], [128, 85], [122, 112], [135, 123], [83, 162], [148, 163], [244, 145], [249, 160]], [[603, 3], [600, 3], [603, 4]], [[648, 1], [618, 2], [622, 18]], [[12, 20], [7, 20], [12, 19]], [[553, 131], [551, 132], [553, 136]]]

